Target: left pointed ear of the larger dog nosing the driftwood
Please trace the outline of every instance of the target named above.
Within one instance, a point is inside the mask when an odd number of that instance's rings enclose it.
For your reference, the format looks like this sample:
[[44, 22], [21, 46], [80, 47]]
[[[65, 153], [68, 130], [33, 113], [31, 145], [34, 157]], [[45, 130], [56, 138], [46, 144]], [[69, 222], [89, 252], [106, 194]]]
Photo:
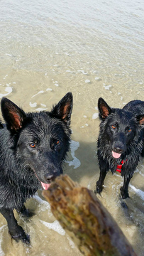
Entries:
[[26, 118], [25, 112], [16, 104], [3, 97], [1, 100], [1, 112], [6, 122], [7, 129], [17, 132], [22, 128], [23, 120]]

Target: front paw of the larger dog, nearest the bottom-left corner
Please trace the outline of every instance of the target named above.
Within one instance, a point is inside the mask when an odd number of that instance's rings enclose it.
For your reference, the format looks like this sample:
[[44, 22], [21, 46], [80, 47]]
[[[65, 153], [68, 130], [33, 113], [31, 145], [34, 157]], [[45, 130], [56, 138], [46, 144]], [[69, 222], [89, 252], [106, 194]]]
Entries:
[[21, 226], [17, 226], [15, 230], [9, 230], [9, 234], [11, 238], [13, 238], [16, 242], [21, 240], [22, 242], [26, 243], [27, 245], [30, 244], [30, 236], [25, 233]]

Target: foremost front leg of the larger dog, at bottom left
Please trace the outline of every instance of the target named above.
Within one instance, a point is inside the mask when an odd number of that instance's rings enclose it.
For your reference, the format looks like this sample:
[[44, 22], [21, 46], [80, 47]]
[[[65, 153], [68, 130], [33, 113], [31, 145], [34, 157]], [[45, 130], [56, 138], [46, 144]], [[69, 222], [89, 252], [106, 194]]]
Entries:
[[16, 240], [16, 242], [18, 240], [22, 240], [23, 242], [26, 242], [26, 244], [29, 244], [30, 238], [28, 235], [26, 235], [23, 228], [18, 225], [16, 218], [14, 218], [13, 210], [1, 208], [0, 212], [4, 218], [6, 218], [11, 237]]

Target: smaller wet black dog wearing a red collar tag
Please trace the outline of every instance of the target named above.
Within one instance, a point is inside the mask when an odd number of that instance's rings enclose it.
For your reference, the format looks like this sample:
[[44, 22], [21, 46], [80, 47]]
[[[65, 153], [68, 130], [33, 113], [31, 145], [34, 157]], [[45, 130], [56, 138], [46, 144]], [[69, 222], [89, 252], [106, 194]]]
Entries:
[[122, 198], [128, 196], [128, 184], [144, 151], [144, 102], [133, 100], [123, 109], [111, 108], [99, 98], [99, 119], [101, 120], [98, 138], [99, 181], [96, 193], [101, 193], [106, 173], [111, 170], [124, 176], [121, 187]]

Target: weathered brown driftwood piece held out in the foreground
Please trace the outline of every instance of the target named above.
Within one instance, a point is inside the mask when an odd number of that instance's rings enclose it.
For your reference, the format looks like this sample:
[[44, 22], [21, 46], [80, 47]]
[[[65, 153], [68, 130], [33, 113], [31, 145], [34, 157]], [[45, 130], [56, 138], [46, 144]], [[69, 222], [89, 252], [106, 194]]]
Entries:
[[[86, 256], [136, 256], [110, 213], [96, 195], [61, 175], [43, 196], [60, 225]], [[75, 239], [76, 238], [76, 239]], [[76, 240], [76, 241], [75, 241]]]

